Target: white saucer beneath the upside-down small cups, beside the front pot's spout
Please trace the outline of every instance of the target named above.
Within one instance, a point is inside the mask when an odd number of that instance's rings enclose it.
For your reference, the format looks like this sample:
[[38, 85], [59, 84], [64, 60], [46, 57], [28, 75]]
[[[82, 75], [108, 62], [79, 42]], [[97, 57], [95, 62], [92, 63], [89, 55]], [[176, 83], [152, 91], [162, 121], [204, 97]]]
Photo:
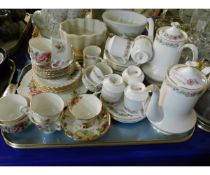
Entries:
[[123, 98], [121, 98], [117, 103], [108, 103], [103, 99], [102, 102], [107, 111], [112, 115], [112, 118], [121, 123], [136, 123], [146, 118], [143, 111], [130, 112], [125, 109]]

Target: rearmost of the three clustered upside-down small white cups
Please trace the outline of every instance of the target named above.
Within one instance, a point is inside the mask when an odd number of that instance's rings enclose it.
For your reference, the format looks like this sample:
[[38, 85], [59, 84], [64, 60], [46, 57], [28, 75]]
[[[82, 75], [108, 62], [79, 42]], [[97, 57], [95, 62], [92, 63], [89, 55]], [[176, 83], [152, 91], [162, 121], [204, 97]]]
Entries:
[[127, 84], [144, 81], [144, 73], [137, 66], [129, 66], [123, 71], [122, 77]]

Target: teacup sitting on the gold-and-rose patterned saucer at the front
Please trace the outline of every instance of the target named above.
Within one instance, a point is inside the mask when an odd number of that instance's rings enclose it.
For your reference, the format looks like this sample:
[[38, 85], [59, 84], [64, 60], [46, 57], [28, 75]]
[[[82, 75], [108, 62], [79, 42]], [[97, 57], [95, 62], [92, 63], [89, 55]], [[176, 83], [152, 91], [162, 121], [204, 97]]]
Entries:
[[82, 94], [71, 99], [68, 109], [79, 125], [89, 128], [101, 113], [102, 102], [95, 95]]

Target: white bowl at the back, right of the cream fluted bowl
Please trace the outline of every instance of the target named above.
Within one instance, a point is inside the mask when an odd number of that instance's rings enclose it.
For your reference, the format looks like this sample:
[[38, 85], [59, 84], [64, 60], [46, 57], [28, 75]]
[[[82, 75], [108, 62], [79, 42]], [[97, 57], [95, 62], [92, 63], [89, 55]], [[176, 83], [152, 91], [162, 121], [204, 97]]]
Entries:
[[144, 15], [127, 10], [107, 10], [102, 18], [110, 32], [127, 38], [140, 35], [147, 24]]

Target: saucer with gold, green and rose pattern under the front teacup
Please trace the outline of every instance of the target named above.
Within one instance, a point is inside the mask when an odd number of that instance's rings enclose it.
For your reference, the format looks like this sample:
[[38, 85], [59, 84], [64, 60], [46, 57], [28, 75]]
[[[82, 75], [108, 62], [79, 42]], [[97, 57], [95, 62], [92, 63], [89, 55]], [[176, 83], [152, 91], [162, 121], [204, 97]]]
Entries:
[[111, 117], [107, 111], [102, 111], [93, 126], [84, 128], [81, 122], [76, 120], [68, 110], [61, 120], [65, 134], [75, 141], [93, 141], [102, 137], [109, 129]]

